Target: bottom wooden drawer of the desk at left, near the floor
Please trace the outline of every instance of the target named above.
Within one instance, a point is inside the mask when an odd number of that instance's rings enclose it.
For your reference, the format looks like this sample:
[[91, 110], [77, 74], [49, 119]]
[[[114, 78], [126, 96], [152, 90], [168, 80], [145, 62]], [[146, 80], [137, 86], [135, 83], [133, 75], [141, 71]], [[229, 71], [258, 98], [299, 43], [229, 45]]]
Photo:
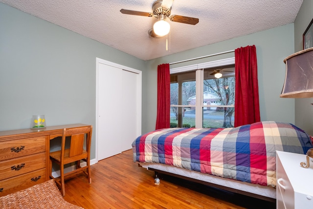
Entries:
[[45, 168], [0, 181], [0, 196], [45, 182]]

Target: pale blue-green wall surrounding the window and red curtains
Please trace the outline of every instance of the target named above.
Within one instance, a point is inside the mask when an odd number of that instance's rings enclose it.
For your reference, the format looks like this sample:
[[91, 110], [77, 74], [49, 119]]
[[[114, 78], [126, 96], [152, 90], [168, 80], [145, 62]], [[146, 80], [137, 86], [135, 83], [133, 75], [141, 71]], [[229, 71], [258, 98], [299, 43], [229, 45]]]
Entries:
[[[146, 127], [144, 127], [143, 132], [148, 132], [155, 128], [156, 72], [158, 64], [187, 60], [248, 45], [255, 45], [257, 49], [261, 120], [294, 123], [293, 99], [282, 99], [279, 97], [285, 78], [285, 64], [283, 60], [294, 51], [293, 30], [293, 23], [291, 23], [148, 61], [147, 69], [149, 69], [149, 72], [146, 73], [147, 77], [145, 77], [147, 85], [144, 89], [145, 98], [143, 98], [144, 104], [146, 104], [143, 107], [143, 115], [145, 116], [143, 123], [146, 124]], [[179, 66], [218, 60], [230, 56], [234, 56], [234, 53], [187, 62], [179, 64]], [[174, 67], [178, 67], [178, 65]]]

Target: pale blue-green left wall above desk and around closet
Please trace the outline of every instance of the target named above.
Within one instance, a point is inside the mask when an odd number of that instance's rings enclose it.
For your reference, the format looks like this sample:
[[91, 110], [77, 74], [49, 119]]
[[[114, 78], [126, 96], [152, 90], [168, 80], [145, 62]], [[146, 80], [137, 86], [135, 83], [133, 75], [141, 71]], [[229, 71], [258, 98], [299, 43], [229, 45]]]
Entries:
[[29, 128], [39, 114], [47, 126], [95, 127], [96, 57], [145, 69], [134, 56], [0, 3], [0, 131]]

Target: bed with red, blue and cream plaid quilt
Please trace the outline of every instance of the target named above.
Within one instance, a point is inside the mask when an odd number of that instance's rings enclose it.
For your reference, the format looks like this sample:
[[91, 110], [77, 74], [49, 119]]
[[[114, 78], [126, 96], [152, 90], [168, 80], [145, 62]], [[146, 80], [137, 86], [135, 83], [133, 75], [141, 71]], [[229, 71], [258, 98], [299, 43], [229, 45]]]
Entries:
[[139, 136], [132, 146], [134, 162], [156, 177], [165, 173], [275, 201], [276, 150], [305, 154], [313, 144], [291, 123], [263, 121], [225, 129], [159, 129]]

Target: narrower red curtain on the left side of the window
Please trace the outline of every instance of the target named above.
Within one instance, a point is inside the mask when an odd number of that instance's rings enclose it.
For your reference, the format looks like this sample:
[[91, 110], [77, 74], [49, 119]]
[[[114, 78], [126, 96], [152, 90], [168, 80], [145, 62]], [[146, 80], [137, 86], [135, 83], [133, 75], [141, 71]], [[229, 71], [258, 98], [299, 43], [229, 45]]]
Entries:
[[158, 65], [156, 129], [170, 127], [170, 83], [170, 65]]

